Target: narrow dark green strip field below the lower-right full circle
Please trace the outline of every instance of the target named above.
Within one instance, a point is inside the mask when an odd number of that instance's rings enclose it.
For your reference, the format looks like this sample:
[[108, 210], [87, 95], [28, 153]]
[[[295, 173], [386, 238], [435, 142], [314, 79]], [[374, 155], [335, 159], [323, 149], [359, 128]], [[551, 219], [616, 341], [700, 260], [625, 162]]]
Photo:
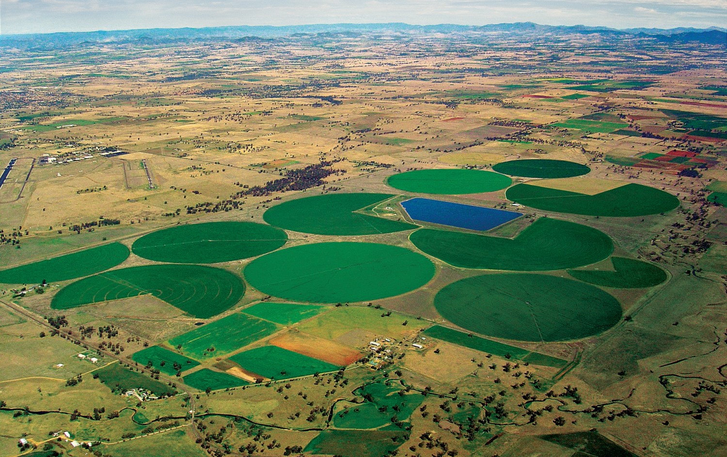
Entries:
[[499, 341], [492, 341], [491, 339], [482, 338], [481, 336], [473, 335], [472, 333], [463, 333], [441, 325], [433, 325], [423, 331], [422, 334], [429, 336], [430, 338], [441, 339], [442, 341], [447, 341], [449, 343], [459, 344], [459, 346], [469, 347], [476, 351], [497, 355], [497, 357], [505, 357], [508, 359], [513, 357], [514, 359], [522, 360], [523, 362], [530, 362], [537, 365], [545, 365], [555, 368], [563, 368], [568, 365], [568, 360], [540, 354], [539, 352], [531, 352], [521, 347], [511, 346], [510, 344], [500, 343]]

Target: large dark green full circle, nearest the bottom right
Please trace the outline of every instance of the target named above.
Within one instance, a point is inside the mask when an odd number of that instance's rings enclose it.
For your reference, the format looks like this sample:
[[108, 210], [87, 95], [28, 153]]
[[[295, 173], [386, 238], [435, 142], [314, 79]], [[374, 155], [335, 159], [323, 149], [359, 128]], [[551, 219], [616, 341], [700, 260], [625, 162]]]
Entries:
[[520, 341], [585, 338], [621, 319], [621, 305], [601, 289], [531, 273], [459, 280], [439, 291], [434, 305], [443, 318], [469, 331]]

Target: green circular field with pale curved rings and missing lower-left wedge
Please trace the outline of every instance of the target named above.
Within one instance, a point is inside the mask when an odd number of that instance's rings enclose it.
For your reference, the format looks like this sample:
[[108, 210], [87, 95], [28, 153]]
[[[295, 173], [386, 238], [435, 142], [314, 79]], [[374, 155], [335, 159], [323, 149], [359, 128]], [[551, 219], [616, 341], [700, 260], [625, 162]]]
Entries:
[[65, 310], [84, 304], [151, 294], [195, 318], [228, 310], [245, 293], [242, 279], [227, 270], [202, 265], [161, 264], [111, 270], [62, 288], [50, 304]]

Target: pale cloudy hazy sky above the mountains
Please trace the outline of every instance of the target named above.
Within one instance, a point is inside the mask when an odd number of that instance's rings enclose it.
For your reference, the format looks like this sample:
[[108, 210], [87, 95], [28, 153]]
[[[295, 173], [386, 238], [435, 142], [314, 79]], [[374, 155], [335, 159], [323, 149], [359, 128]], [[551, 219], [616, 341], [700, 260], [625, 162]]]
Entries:
[[727, 0], [0, 0], [0, 33], [320, 23], [699, 27]]

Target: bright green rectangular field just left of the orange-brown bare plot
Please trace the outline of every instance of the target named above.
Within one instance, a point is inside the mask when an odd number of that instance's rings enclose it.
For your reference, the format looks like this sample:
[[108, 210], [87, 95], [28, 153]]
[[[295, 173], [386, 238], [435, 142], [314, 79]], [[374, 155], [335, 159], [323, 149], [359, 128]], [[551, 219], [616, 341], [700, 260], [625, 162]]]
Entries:
[[274, 323], [238, 312], [175, 336], [169, 344], [174, 347], [181, 345], [183, 354], [201, 360], [228, 354], [276, 331], [278, 326]]

